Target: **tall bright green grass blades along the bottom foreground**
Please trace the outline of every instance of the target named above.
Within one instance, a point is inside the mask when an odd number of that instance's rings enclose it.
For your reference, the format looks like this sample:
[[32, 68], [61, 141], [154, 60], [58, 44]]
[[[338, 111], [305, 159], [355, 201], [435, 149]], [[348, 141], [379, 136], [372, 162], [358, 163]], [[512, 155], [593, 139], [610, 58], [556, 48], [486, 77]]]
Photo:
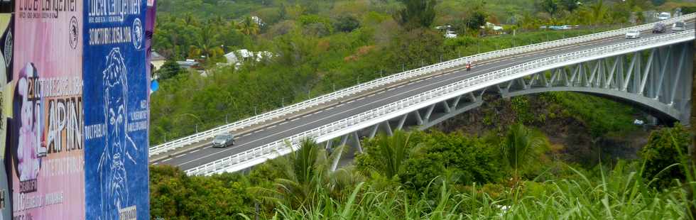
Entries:
[[312, 209], [279, 203], [274, 219], [692, 219], [687, 210], [694, 198], [686, 188], [648, 187], [640, 163], [602, 168], [599, 176], [569, 168], [572, 179], [523, 182], [515, 188], [522, 195], [517, 202], [510, 189], [494, 198], [477, 185], [455, 187], [442, 177], [418, 197], [362, 182], [346, 198], [317, 193], [320, 205]]

